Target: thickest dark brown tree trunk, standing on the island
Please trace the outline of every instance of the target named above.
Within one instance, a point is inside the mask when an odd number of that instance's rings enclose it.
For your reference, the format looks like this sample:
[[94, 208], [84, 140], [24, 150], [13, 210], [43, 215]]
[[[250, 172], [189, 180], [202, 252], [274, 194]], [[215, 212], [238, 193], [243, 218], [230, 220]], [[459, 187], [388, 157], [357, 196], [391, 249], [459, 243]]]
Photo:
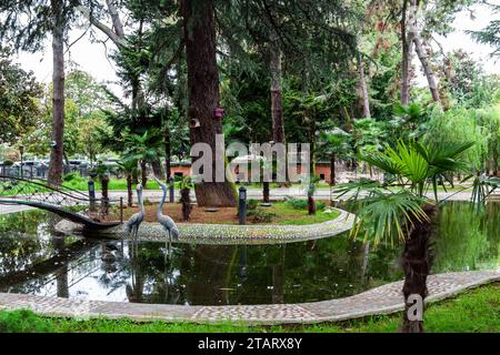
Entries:
[[[191, 126], [191, 144], [207, 143], [212, 149], [212, 181], [196, 185], [200, 206], [236, 206], [231, 182], [216, 182], [216, 134], [222, 134], [222, 122], [214, 118], [219, 104], [219, 71], [216, 58], [213, 1], [182, 0], [184, 42], [188, 63], [188, 118], [198, 120]], [[223, 159], [226, 164], [226, 159]]]

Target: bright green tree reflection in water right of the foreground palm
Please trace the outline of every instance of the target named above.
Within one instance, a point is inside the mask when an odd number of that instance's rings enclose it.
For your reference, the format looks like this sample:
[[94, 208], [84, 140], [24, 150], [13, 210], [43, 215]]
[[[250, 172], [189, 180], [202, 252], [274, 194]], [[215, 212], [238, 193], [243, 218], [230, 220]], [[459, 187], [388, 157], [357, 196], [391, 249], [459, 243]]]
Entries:
[[434, 236], [432, 272], [497, 267], [499, 206], [489, 203], [480, 211], [468, 203], [450, 202], [441, 207]]

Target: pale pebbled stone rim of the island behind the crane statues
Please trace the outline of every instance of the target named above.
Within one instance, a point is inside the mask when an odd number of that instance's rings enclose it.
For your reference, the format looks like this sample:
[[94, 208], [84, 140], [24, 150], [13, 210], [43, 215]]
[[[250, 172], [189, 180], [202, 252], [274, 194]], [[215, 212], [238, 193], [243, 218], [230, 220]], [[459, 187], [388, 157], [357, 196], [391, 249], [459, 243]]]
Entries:
[[[179, 243], [196, 244], [273, 244], [294, 243], [318, 240], [338, 235], [352, 229], [354, 215], [340, 209], [340, 215], [331, 221], [306, 225], [238, 225], [238, 224], [200, 224], [178, 223], [180, 231]], [[82, 227], [69, 221], [61, 221], [56, 225], [61, 233], [71, 234], [82, 232]], [[124, 226], [120, 225], [94, 233], [96, 236], [127, 239]], [[139, 229], [139, 241], [164, 242], [166, 231], [156, 222], [144, 222]]]

